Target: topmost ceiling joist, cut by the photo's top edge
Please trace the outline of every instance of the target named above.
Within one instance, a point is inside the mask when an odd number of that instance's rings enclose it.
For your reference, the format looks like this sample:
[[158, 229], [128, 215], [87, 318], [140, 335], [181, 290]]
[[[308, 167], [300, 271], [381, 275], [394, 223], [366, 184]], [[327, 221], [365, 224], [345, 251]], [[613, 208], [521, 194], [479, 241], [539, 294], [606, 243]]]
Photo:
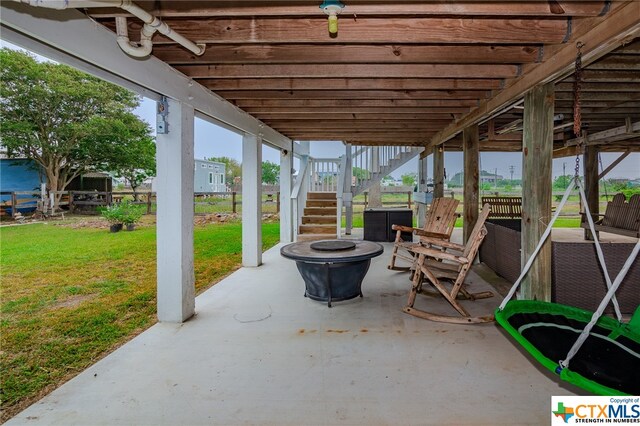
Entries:
[[[179, 1], [157, 2], [138, 0], [146, 10], [163, 18], [197, 18], [197, 17], [302, 17], [317, 16], [317, 1], [308, 2], [265, 2], [243, 1], [233, 2], [203, 2]], [[306, 3], [306, 4], [302, 4]], [[395, 16], [395, 15], [456, 15], [456, 16], [598, 16], [606, 11], [605, 1], [554, 1], [550, 5], [547, 1], [505, 2], [505, 1], [457, 1], [455, 3], [398, 3], [389, 5], [376, 4], [366, 1], [351, 0], [344, 9], [342, 16]], [[94, 18], [109, 18], [113, 16], [131, 16], [120, 9], [98, 8], [91, 9]]]

